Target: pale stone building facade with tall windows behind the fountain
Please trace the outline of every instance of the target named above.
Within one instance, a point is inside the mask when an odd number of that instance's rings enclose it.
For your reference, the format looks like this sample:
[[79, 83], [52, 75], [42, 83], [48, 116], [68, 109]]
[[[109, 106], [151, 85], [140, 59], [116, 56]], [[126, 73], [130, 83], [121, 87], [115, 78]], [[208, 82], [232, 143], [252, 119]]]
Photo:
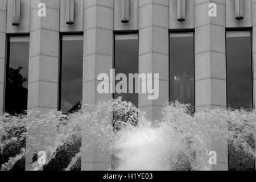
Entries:
[[[159, 118], [172, 98], [195, 105], [196, 112], [228, 106], [253, 109], [255, 34], [255, 0], [1, 0], [0, 113], [12, 111], [17, 100], [22, 104], [15, 110], [66, 112], [80, 101], [110, 99], [112, 94], [97, 92], [97, 76], [112, 68], [159, 73], [157, 100], [148, 100], [146, 94], [127, 96], [151, 119]], [[240, 49], [241, 44], [246, 49]], [[239, 51], [244, 53], [235, 56], [240, 56], [236, 63], [244, 60], [249, 75], [242, 75], [246, 90], [240, 90], [243, 97], [235, 101], [232, 91], [239, 85], [229, 82], [236, 82], [237, 68], [230, 60]], [[125, 54], [133, 54], [134, 63], [122, 70], [126, 61], [115, 60], [125, 59]], [[73, 57], [76, 62], [69, 61]], [[18, 88], [22, 96], [11, 93], [6, 84], [11, 73], [26, 78]], [[213, 169], [228, 170], [228, 144], [219, 145]], [[27, 165], [31, 160], [28, 155]], [[108, 169], [111, 160], [111, 155], [109, 163], [82, 158], [82, 169]]]

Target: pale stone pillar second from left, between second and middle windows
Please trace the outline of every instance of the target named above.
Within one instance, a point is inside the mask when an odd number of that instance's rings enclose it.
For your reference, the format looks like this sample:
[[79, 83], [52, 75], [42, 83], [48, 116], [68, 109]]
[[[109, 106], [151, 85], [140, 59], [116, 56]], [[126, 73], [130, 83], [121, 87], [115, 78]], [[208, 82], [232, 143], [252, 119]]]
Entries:
[[[110, 78], [110, 69], [113, 68], [113, 18], [113, 0], [84, 0], [83, 104], [94, 105], [100, 100], [112, 99], [112, 94], [98, 93], [97, 86], [100, 81], [97, 77], [100, 73], [106, 73]], [[89, 138], [86, 138], [86, 134], [82, 136], [82, 146], [85, 146]], [[98, 143], [90, 147], [94, 147], [94, 151], [86, 148], [82, 151], [81, 169], [111, 169], [112, 154], [103, 152]]]

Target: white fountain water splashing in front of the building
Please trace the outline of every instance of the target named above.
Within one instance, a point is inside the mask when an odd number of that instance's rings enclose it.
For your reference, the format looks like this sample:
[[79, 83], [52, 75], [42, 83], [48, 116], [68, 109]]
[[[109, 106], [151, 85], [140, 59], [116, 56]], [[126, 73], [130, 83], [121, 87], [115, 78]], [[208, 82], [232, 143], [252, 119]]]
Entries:
[[[167, 104], [159, 120], [151, 121], [150, 113], [119, 98], [84, 105], [69, 115], [5, 114], [0, 117], [2, 170], [13, 169], [25, 156], [31, 159], [30, 170], [46, 170], [47, 165], [56, 166], [63, 151], [69, 156], [63, 170], [81, 165], [81, 159], [114, 163], [116, 170], [210, 170], [209, 151], [228, 142], [233, 150], [255, 158], [248, 140], [255, 133], [254, 112], [211, 109], [192, 115], [187, 108], [178, 102]], [[44, 166], [32, 160], [38, 151], [47, 154]]]

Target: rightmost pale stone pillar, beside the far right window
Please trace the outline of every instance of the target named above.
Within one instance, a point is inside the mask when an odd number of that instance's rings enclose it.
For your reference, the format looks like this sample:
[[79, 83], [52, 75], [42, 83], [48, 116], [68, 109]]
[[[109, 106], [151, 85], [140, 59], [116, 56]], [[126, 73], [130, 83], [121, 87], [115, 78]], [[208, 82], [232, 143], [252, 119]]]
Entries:
[[[208, 15], [210, 3], [216, 3], [217, 17]], [[196, 111], [226, 109], [225, 25], [225, 0], [195, 0]], [[211, 147], [217, 152], [213, 170], [228, 170], [228, 143], [214, 142]]]

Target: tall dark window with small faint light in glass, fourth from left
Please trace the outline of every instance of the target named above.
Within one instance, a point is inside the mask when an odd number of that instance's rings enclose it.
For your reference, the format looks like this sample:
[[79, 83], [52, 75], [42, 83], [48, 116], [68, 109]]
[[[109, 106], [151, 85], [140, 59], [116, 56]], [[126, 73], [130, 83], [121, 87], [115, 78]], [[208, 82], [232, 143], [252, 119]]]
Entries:
[[193, 32], [170, 34], [170, 101], [195, 106]]

